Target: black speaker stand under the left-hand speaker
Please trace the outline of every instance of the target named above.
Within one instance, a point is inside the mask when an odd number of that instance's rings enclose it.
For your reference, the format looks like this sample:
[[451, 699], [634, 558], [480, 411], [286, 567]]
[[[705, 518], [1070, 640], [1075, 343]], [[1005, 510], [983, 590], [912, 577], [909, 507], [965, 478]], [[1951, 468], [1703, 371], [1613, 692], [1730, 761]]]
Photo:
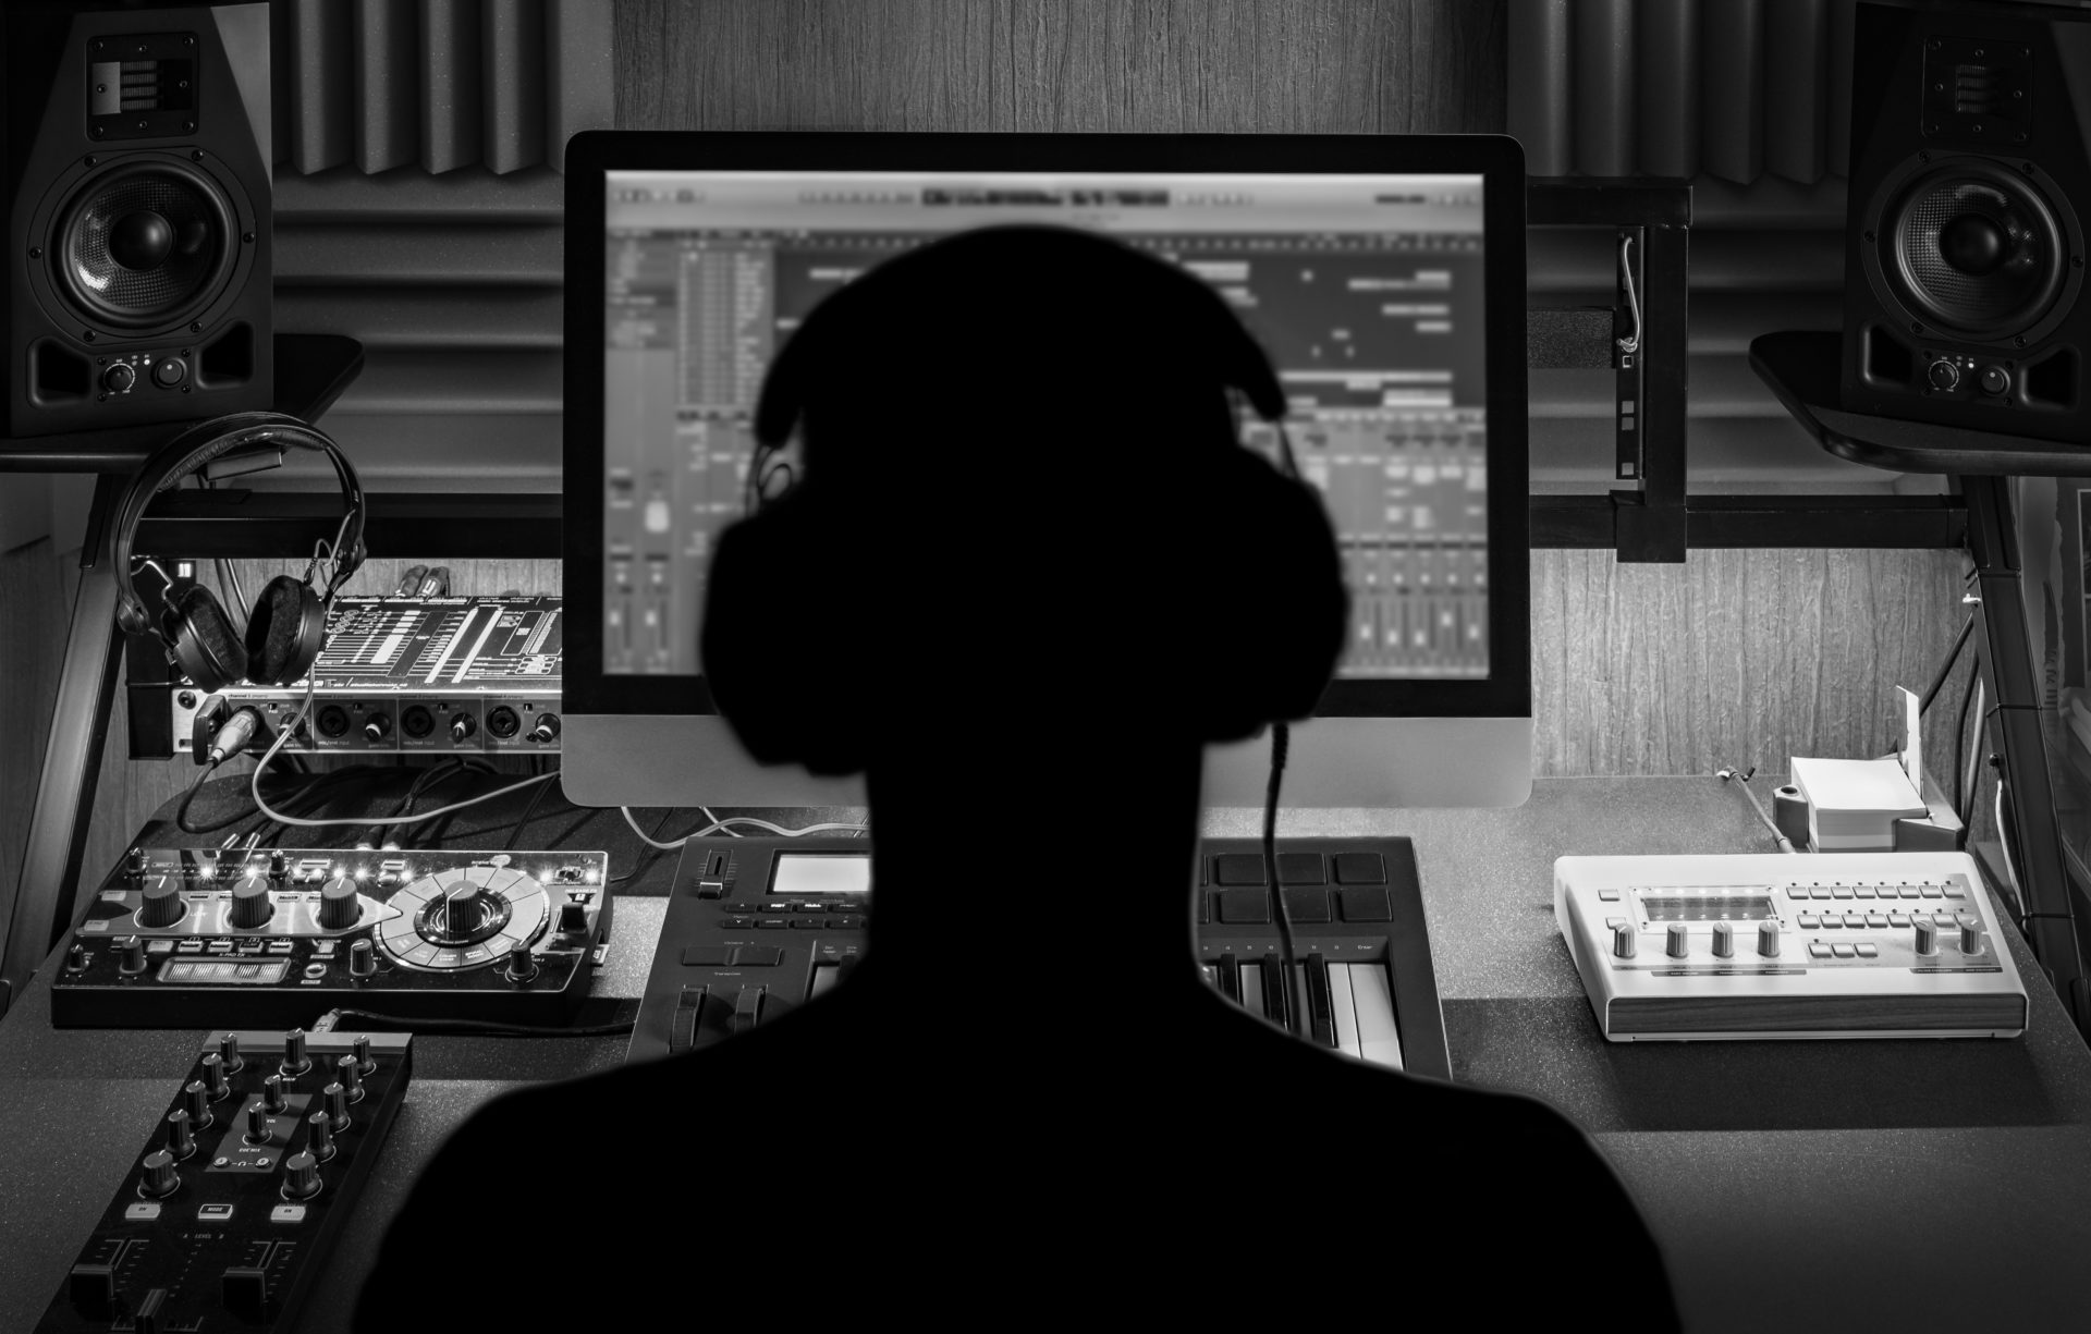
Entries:
[[[316, 420], [364, 368], [364, 349], [339, 335], [276, 337], [278, 412]], [[50, 740], [38, 776], [29, 841], [13, 901], [0, 899], [0, 1016], [71, 928], [77, 907], [79, 861], [86, 855], [88, 815], [100, 780], [102, 740], [115, 694], [121, 631], [117, 629], [117, 577], [109, 567], [109, 523], [130, 473], [188, 422], [121, 427], [25, 441], [15, 454], [0, 441], [0, 470], [88, 470], [94, 502], [79, 548], [79, 592], [73, 596], [65, 667], [59, 675]], [[38, 462], [25, 464], [23, 458]]]

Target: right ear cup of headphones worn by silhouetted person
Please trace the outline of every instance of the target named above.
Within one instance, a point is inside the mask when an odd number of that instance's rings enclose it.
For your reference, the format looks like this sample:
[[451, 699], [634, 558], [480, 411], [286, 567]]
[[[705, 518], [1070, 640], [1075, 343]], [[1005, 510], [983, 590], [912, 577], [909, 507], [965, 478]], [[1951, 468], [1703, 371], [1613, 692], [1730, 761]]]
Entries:
[[1213, 514], [1225, 531], [1204, 562], [1202, 625], [1225, 625], [1225, 652], [1192, 680], [1207, 742], [1257, 736], [1313, 713], [1351, 621], [1336, 531], [1319, 496], [1248, 450], [1215, 470]]

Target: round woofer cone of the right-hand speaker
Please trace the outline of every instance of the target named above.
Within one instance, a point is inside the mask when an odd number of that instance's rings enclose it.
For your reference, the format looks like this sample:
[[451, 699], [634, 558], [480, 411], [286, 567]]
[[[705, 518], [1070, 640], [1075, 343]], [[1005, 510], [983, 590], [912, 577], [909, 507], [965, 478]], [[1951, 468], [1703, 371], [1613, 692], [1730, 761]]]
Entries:
[[2047, 199], [1984, 159], [1917, 171], [1874, 230], [1888, 291], [1915, 320], [1959, 339], [2024, 335], [2068, 276], [2068, 232]]

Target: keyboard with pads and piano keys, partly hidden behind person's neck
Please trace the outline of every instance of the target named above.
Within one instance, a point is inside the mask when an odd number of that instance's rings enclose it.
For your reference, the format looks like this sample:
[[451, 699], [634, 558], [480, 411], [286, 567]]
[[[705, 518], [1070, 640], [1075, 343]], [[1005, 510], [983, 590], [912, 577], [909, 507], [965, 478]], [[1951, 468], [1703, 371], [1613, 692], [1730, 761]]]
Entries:
[[[1223, 995], [1303, 1041], [1451, 1079], [1416, 853], [1407, 838], [1282, 838], [1294, 991], [1255, 838], [1198, 853], [1198, 962]], [[870, 949], [861, 838], [692, 841], [682, 851], [627, 1060], [700, 1050], [843, 985]]]

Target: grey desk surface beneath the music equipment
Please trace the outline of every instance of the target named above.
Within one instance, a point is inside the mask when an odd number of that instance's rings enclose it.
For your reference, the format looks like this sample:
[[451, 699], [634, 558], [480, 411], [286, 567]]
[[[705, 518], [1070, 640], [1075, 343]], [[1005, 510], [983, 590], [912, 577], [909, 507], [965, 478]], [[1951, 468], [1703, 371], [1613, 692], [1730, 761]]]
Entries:
[[[2016, 1041], [1598, 1035], [1554, 926], [1554, 857], [1767, 851], [1719, 780], [1541, 780], [1514, 811], [1288, 811], [1282, 830], [1416, 838], [1453, 1077], [1545, 1098], [1598, 1137], [1664, 1246], [1687, 1328], [2091, 1321], [2091, 1052], [2051, 993], [2028, 987]], [[1255, 834], [1257, 813], [1213, 811], [1204, 832]], [[648, 891], [669, 866], [617, 905], [602, 1010], [640, 995], [663, 907]], [[2039, 979], [2016, 933], [2001, 937]], [[0, 1022], [0, 1330], [33, 1328], [203, 1037], [54, 1031], [46, 972]], [[516, 1083], [613, 1066], [623, 1045], [416, 1037], [408, 1104], [303, 1328], [347, 1326], [366, 1257], [458, 1121]], [[1428, 1202], [1414, 1211], [1428, 1219]], [[1514, 1275], [1516, 1257], [1501, 1267]]]

